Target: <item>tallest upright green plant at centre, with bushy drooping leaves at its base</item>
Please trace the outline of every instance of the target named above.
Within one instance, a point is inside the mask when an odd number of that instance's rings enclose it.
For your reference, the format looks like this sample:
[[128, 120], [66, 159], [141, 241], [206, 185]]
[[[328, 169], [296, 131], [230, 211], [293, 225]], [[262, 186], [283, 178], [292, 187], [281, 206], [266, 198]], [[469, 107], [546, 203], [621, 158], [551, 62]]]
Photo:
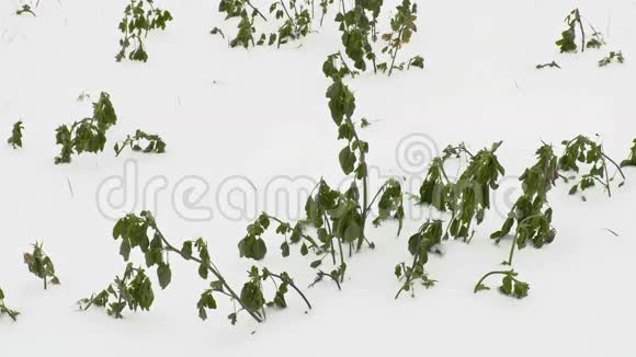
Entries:
[[[303, 256], [310, 252], [314, 255], [309, 264], [317, 269], [314, 284], [328, 277], [340, 288], [348, 269], [347, 257], [360, 251], [364, 243], [370, 249], [375, 247], [367, 240], [365, 229], [376, 203], [378, 214], [372, 223], [378, 226], [386, 220], [395, 220], [398, 223], [397, 234], [400, 233], [405, 215], [404, 193], [400, 182], [389, 178], [374, 196], [370, 195], [368, 142], [361, 139], [359, 131], [363, 126], [368, 126], [368, 122], [353, 119], [355, 96], [343, 82], [345, 76], [354, 76], [355, 71], [342, 61], [340, 54], [328, 56], [322, 70], [332, 80], [326, 96], [331, 118], [338, 127], [338, 139], [345, 141], [338, 160], [342, 172], [351, 176], [351, 184], [341, 192], [320, 180], [305, 203], [305, 218], [294, 224], [263, 212], [248, 226], [248, 234], [238, 247], [240, 256], [262, 260], [268, 252], [262, 235], [273, 223], [276, 233], [284, 238], [281, 244], [283, 256], [289, 255], [292, 244], [298, 244]], [[325, 261], [329, 257], [333, 266], [323, 270], [321, 267], [327, 265]]]

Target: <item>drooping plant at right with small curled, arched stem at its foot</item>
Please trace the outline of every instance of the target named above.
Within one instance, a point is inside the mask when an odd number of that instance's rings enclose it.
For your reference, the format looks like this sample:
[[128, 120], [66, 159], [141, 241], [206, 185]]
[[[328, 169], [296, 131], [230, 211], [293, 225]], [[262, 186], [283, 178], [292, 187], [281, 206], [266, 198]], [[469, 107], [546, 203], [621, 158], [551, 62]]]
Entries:
[[[555, 186], [558, 178], [558, 158], [555, 156], [553, 147], [544, 143], [537, 151], [536, 163], [525, 169], [519, 177], [523, 195], [516, 199], [512, 206], [508, 218], [500, 230], [490, 235], [499, 242], [509, 235], [513, 226], [516, 226], [510, 245], [510, 255], [502, 264], [512, 266], [515, 250], [524, 249], [529, 243], [536, 249], [549, 244], [556, 237], [556, 230], [552, 226], [553, 209], [547, 201], [547, 193]], [[486, 274], [475, 286], [475, 292], [487, 290], [484, 281], [493, 275], [502, 275], [499, 290], [508, 296], [519, 299], [527, 296], [530, 288], [527, 283], [516, 278], [514, 270], [495, 270]]]

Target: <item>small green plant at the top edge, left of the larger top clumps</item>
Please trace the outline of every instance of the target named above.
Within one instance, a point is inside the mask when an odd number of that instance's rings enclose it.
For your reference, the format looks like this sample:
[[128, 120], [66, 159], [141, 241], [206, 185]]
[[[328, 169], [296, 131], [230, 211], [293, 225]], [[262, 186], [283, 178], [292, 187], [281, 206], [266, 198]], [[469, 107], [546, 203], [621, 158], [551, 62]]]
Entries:
[[166, 30], [166, 24], [170, 21], [172, 21], [170, 12], [155, 8], [154, 0], [130, 0], [124, 10], [124, 19], [118, 25], [122, 38], [120, 39], [121, 49], [115, 56], [117, 62], [126, 58], [126, 51], [132, 45], [135, 47], [127, 55], [128, 59], [147, 61], [148, 54], [144, 48], [144, 38], [148, 36], [149, 31]]

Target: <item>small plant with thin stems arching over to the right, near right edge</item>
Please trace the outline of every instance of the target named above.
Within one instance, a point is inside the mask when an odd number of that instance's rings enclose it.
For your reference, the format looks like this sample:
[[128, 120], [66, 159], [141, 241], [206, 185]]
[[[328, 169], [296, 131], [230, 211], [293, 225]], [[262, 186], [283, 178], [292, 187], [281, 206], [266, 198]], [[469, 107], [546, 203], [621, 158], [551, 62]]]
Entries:
[[[590, 171], [584, 173], [581, 178], [571, 186], [569, 192], [570, 195], [575, 195], [579, 189], [583, 192], [600, 184], [605, 188], [607, 195], [612, 197], [611, 182], [614, 177], [610, 177], [607, 162], [613, 164], [623, 177], [623, 182], [618, 184], [618, 187], [623, 186], [625, 183], [625, 175], [623, 174], [621, 166], [612, 160], [612, 158], [605, 154], [601, 143], [579, 135], [572, 140], [563, 141], [563, 145], [565, 146], [565, 152], [558, 161], [559, 170], [578, 173], [580, 171], [579, 164], [591, 165]], [[564, 177], [564, 180], [566, 183], [568, 182], [568, 178]], [[586, 200], [586, 197], [582, 196], [582, 199]]]

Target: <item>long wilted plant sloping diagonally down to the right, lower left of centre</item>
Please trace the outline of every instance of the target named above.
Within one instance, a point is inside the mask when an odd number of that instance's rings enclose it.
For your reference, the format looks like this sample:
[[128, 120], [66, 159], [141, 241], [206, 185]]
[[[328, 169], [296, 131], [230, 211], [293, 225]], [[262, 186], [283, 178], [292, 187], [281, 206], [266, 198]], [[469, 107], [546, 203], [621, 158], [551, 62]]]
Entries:
[[[144, 253], [147, 267], [157, 266], [157, 276], [162, 289], [167, 288], [172, 280], [172, 270], [168, 260], [170, 254], [175, 254], [185, 261], [196, 263], [198, 265], [198, 275], [203, 279], [207, 279], [209, 274], [212, 274], [214, 280], [211, 281], [209, 289], [201, 295], [197, 303], [198, 315], [203, 320], [207, 318], [206, 310], [216, 309], [216, 300], [214, 298], [216, 293], [226, 296], [240, 306], [240, 309], [237, 310], [235, 308], [235, 311], [228, 315], [232, 324], [236, 323], [237, 314], [243, 310], [257, 322], [262, 322], [265, 318], [263, 310], [265, 302], [264, 298], [262, 298], [262, 285], [255, 284], [257, 277], [262, 280], [271, 279], [274, 284], [276, 281], [280, 283], [280, 286], [276, 286], [276, 295], [272, 300], [273, 306], [286, 307], [286, 303], [283, 303], [285, 301], [284, 296], [287, 292], [287, 287], [292, 287], [303, 298], [307, 307], [311, 309], [309, 301], [294, 284], [292, 277], [285, 272], [274, 274], [263, 268], [261, 273], [258, 273], [258, 268], [252, 267], [250, 270], [250, 279], [243, 285], [240, 295], [238, 295], [212, 262], [205, 240], [200, 238], [197, 240], [185, 241], [181, 249], [177, 249], [163, 237], [149, 211], [143, 211], [139, 216], [130, 214], [120, 219], [113, 228], [113, 237], [115, 240], [121, 240], [122, 242], [120, 254], [124, 257], [124, 261], [127, 262], [130, 256], [130, 251], [138, 247]], [[261, 301], [262, 303], [260, 303]]]

